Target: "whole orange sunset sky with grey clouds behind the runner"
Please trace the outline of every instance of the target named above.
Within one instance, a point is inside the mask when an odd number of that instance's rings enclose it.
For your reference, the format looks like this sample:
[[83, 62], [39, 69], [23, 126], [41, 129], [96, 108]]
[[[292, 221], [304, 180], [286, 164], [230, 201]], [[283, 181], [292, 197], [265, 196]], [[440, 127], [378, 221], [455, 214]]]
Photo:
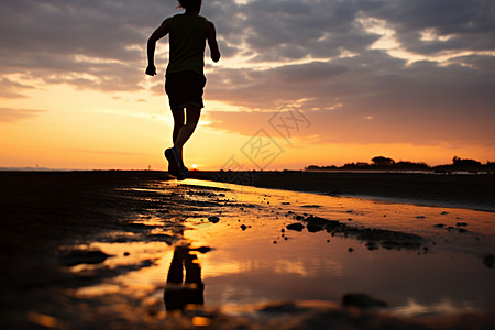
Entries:
[[[166, 169], [173, 0], [2, 0], [0, 167]], [[200, 169], [495, 161], [495, 2], [205, 0]]]

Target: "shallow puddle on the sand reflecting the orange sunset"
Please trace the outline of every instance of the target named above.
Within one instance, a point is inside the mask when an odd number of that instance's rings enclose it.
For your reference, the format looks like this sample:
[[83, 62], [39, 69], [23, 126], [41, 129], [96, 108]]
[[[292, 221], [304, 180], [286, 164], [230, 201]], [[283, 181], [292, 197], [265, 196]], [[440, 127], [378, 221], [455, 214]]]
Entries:
[[[483, 261], [495, 252], [494, 213], [193, 179], [142, 193], [164, 209], [143, 209], [129, 232], [85, 246], [111, 256], [70, 268], [101, 279], [76, 296], [129, 296], [158, 315], [165, 300], [168, 309], [195, 302], [239, 310], [283, 299], [339, 302], [348, 293], [383, 299], [405, 316], [495, 310], [493, 262]], [[370, 249], [355, 235], [287, 229], [310, 215], [414, 233], [421, 244]], [[194, 250], [201, 246], [212, 250]]]

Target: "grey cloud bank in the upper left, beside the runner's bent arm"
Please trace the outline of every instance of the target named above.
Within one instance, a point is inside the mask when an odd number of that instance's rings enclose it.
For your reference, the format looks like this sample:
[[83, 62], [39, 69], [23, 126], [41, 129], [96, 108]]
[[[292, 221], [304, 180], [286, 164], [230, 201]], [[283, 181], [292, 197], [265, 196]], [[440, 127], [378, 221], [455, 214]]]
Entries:
[[[168, 9], [168, 10], [167, 10]], [[164, 1], [29, 1], [0, 4], [0, 72], [79, 88], [139, 90], [144, 47]]]

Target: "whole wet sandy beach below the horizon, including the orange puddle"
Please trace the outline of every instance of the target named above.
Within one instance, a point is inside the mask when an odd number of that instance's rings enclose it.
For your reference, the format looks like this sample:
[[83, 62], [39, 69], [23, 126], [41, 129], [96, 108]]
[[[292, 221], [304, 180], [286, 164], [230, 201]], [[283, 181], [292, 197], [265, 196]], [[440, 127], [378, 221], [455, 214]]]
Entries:
[[0, 172], [2, 329], [495, 326], [493, 176], [222, 177]]

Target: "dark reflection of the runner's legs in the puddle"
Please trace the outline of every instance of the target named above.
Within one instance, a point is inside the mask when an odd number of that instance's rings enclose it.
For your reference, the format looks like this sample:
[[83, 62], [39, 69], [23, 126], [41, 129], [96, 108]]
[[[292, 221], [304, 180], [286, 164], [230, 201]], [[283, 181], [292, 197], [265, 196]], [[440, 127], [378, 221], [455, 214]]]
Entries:
[[[190, 254], [190, 251], [194, 250], [186, 246], [175, 248], [164, 295], [166, 310], [184, 309], [186, 305], [202, 305], [205, 301], [201, 266], [196, 263], [197, 256]], [[184, 268], [186, 268], [185, 280]]]

